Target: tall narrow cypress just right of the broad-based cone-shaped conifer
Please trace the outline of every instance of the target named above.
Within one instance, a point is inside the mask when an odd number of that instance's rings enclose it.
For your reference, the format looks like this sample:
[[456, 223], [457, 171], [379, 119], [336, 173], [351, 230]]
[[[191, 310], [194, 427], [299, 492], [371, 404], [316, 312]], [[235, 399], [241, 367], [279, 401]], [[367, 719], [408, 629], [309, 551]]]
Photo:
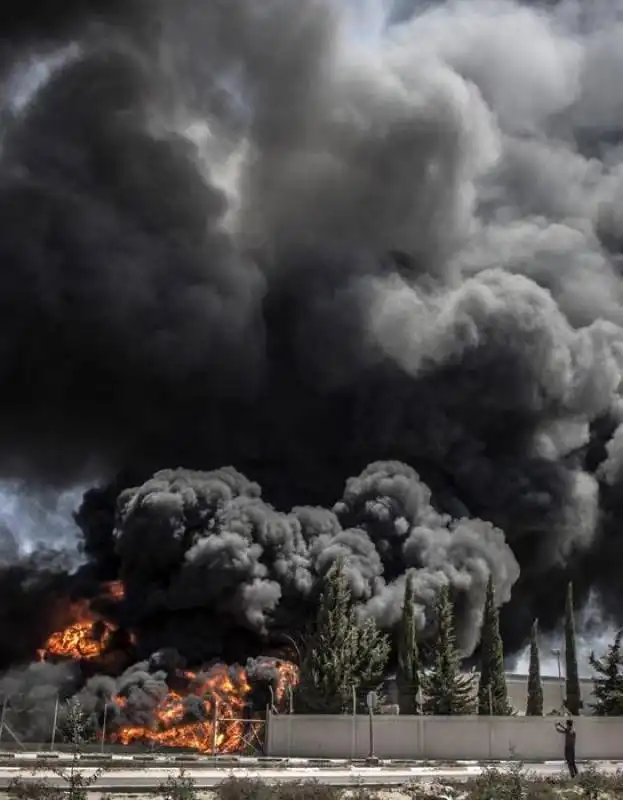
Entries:
[[480, 640], [480, 681], [478, 683], [478, 713], [504, 716], [510, 714], [504, 649], [500, 636], [500, 619], [495, 605], [493, 578], [489, 577]]

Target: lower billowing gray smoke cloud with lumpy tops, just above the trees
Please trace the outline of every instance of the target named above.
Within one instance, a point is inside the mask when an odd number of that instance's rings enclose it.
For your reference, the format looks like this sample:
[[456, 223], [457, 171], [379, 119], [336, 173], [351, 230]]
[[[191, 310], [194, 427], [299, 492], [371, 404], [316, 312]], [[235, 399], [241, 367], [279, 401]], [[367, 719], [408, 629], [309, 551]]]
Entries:
[[371, 464], [352, 478], [333, 511], [287, 513], [232, 468], [163, 471], [121, 494], [114, 535], [133, 623], [140, 630], [156, 609], [164, 626], [180, 613], [205, 615], [209, 635], [196, 625], [190, 642], [187, 630], [171, 631], [170, 642], [204, 662], [220, 654], [223, 626], [266, 637], [275, 627], [304, 625], [305, 601], [337, 560], [361, 613], [385, 629], [400, 619], [407, 575], [422, 631], [439, 588], [450, 586], [463, 609], [467, 655], [478, 643], [489, 576], [500, 604], [519, 576], [502, 531], [438, 513], [415, 470], [397, 462]]

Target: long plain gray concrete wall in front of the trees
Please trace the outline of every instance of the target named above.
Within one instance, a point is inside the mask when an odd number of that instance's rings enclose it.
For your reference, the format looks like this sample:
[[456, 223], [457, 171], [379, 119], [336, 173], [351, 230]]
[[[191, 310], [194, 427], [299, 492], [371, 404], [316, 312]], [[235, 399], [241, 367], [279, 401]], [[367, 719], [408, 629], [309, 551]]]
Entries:
[[[557, 717], [374, 717], [379, 758], [552, 761], [562, 758]], [[578, 759], [623, 759], [623, 717], [576, 719]], [[267, 755], [299, 758], [365, 758], [369, 718], [273, 715]]]

